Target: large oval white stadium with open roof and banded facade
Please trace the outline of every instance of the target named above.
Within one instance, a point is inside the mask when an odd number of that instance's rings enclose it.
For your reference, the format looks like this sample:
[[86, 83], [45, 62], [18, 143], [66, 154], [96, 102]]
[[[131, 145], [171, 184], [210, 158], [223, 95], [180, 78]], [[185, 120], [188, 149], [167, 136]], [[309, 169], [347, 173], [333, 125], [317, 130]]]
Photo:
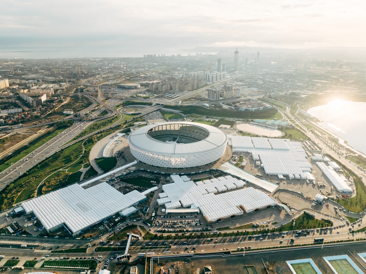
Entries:
[[131, 154], [139, 161], [163, 168], [190, 168], [220, 159], [226, 134], [211, 125], [164, 122], [138, 128], [128, 136]]

